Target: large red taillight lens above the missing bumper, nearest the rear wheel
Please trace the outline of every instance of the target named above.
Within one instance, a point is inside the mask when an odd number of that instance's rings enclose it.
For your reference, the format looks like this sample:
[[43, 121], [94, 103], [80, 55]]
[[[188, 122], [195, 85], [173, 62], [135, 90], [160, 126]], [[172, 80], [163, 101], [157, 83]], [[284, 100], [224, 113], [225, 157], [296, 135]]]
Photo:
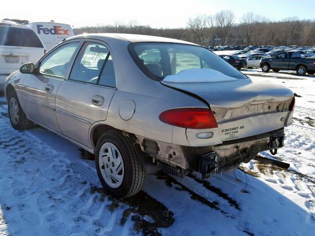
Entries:
[[177, 108], [162, 112], [159, 119], [167, 124], [191, 128], [217, 128], [217, 120], [209, 108]]

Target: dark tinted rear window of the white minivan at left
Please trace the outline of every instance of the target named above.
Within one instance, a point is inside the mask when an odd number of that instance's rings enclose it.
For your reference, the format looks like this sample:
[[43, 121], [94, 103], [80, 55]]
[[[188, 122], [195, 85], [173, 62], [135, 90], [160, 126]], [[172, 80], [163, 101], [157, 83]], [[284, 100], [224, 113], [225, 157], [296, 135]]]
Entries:
[[0, 26], [0, 46], [43, 48], [43, 44], [32, 29], [7, 26]]

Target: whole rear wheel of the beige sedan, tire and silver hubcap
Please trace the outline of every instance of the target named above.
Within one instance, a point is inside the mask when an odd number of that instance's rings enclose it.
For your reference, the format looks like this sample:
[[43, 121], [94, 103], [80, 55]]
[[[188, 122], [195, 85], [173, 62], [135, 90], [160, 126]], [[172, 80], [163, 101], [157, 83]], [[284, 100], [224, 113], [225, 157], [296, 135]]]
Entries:
[[110, 130], [99, 138], [95, 166], [103, 188], [116, 198], [138, 193], [146, 179], [131, 139], [117, 130]]

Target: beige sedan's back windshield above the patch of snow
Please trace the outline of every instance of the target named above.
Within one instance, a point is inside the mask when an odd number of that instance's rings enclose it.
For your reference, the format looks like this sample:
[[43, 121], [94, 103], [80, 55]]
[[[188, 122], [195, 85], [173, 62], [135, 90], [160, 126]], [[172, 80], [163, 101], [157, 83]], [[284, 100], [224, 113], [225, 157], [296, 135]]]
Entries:
[[151, 79], [161, 81], [186, 69], [208, 68], [236, 79], [248, 78], [209, 50], [178, 43], [131, 43], [132, 59]]

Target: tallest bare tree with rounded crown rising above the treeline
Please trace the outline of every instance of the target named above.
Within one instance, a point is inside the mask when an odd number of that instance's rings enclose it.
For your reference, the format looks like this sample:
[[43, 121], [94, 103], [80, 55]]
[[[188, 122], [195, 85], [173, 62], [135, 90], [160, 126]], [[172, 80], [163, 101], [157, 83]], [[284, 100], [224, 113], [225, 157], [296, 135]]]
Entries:
[[221, 38], [222, 45], [225, 44], [226, 37], [233, 26], [234, 20], [234, 13], [229, 10], [223, 10], [214, 15], [214, 22], [217, 26], [217, 34]]

